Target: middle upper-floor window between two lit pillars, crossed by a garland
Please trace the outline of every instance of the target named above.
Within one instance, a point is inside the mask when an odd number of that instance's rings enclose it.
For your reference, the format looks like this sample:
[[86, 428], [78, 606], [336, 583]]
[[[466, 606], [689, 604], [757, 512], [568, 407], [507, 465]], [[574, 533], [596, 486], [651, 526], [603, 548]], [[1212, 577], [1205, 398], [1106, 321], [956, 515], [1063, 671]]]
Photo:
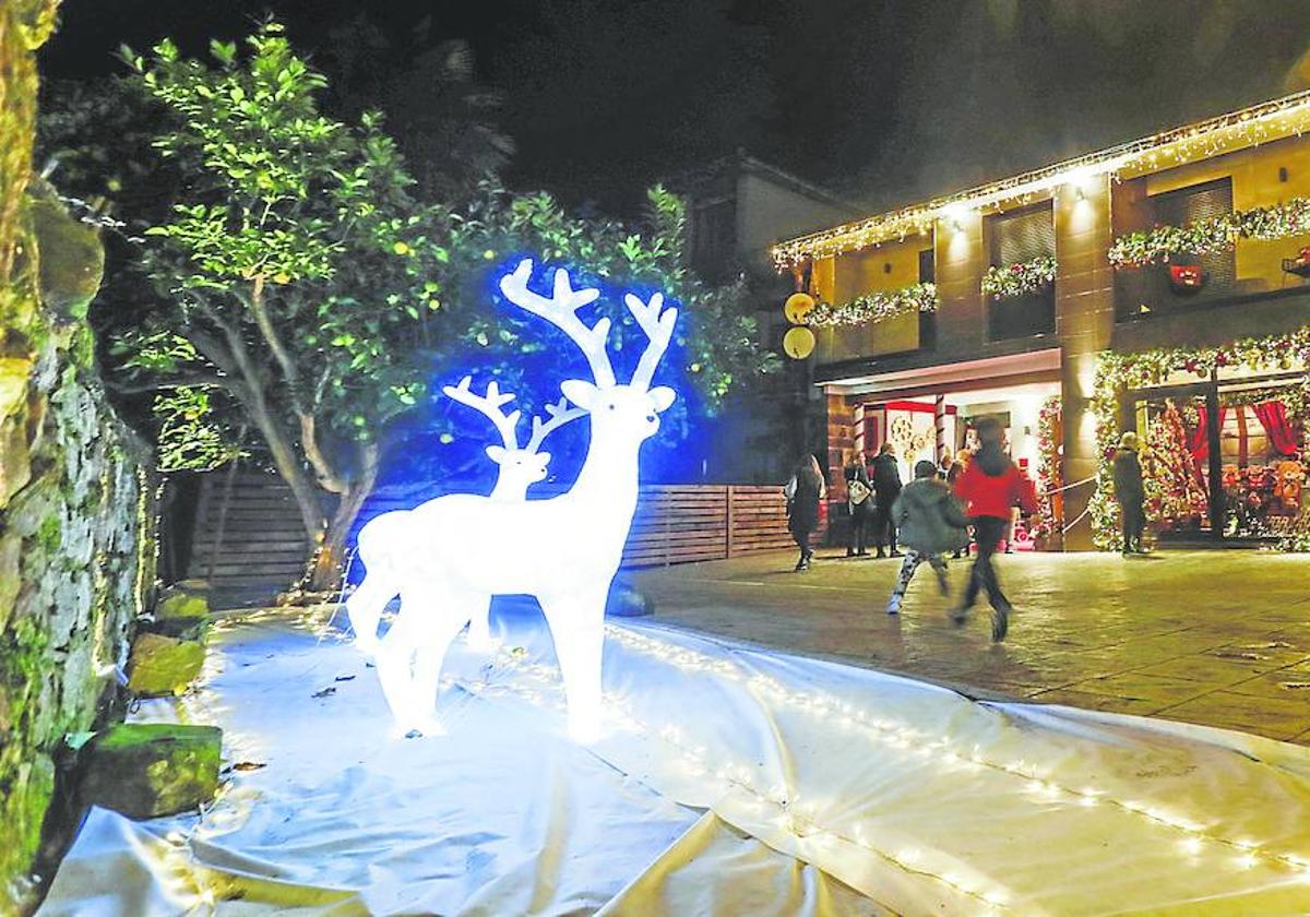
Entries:
[[[993, 267], [1056, 254], [1055, 212], [1049, 200], [988, 217], [988, 250]], [[1006, 341], [1056, 330], [1053, 287], [1022, 296], [988, 297], [988, 338]]]

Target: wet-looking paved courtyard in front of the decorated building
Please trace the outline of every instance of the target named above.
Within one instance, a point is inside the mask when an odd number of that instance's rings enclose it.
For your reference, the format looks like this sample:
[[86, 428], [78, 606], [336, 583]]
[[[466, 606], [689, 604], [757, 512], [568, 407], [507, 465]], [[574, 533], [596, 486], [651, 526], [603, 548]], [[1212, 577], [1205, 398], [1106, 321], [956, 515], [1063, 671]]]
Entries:
[[[820, 553], [642, 571], [656, 620], [904, 672], [985, 697], [1158, 715], [1310, 745], [1310, 557], [1165, 552], [998, 558], [1018, 609], [992, 645], [985, 603], [963, 629], [931, 571], [886, 614], [900, 561]], [[951, 565], [963, 588], [967, 565]]]

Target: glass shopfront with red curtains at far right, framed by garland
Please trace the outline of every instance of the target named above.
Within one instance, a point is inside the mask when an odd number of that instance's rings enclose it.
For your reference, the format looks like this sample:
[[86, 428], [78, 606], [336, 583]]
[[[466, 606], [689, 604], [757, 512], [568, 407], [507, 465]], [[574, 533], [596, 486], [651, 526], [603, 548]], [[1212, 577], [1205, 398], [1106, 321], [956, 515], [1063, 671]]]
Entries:
[[1294, 525], [1306, 478], [1305, 375], [1217, 379], [1128, 393], [1144, 443], [1146, 515], [1161, 540], [1277, 540]]

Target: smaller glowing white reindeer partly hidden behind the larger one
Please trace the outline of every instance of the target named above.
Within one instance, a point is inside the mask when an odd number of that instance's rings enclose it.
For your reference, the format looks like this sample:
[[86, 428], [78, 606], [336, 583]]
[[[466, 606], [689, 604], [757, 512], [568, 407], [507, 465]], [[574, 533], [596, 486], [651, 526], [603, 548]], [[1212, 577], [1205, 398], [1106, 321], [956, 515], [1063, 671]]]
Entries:
[[[519, 411], [504, 413], [504, 406], [514, 401], [510, 393], [500, 393], [499, 385], [487, 384], [487, 393], [474, 394], [472, 376], [465, 376], [458, 385], [441, 389], [447, 397], [474, 409], [500, 434], [503, 445], [486, 447], [487, 457], [498, 466], [495, 487], [487, 499], [506, 503], [521, 503], [528, 496], [528, 487], [545, 479], [550, 453], [541, 452], [546, 436], [559, 427], [576, 421], [584, 410], [570, 407], [566, 398], [558, 403], [546, 405], [546, 419], [532, 418], [532, 434], [528, 444], [519, 448]], [[377, 650], [377, 624], [386, 603], [400, 595], [405, 578], [405, 558], [396, 555], [394, 546], [403, 545], [410, 538], [422, 538], [414, 532], [411, 510], [384, 512], [368, 520], [359, 531], [356, 557], [364, 565], [365, 576], [359, 588], [346, 600], [351, 629], [355, 631], [355, 646], [365, 652]], [[490, 607], [481, 614], [474, 613], [469, 621], [469, 645], [479, 650], [491, 650], [491, 633], [487, 626]]]

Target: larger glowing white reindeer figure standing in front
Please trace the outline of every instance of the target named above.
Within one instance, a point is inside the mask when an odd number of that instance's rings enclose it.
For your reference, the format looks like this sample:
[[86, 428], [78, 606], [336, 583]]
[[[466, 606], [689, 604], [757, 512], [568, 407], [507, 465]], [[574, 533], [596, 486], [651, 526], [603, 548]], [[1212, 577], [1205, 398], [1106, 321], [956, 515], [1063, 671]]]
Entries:
[[401, 612], [376, 652], [377, 675], [398, 728], [440, 731], [434, 709], [451, 641], [494, 595], [532, 595], [555, 645], [569, 702], [569, 731], [595, 736], [600, 722], [605, 599], [637, 510], [637, 453], [673, 403], [665, 386], [651, 388], [673, 337], [677, 309], [660, 293], [625, 303], [648, 343], [626, 385], [607, 351], [609, 320], [588, 328], [578, 309], [596, 290], [572, 290], [557, 270], [550, 297], [528, 288], [532, 262], [500, 279], [519, 308], [545, 318], [578, 345], [591, 383], [559, 388], [591, 417], [591, 445], [569, 493], [542, 500], [499, 502], [451, 494], [411, 511], [407, 544], [392, 553], [401, 571]]

